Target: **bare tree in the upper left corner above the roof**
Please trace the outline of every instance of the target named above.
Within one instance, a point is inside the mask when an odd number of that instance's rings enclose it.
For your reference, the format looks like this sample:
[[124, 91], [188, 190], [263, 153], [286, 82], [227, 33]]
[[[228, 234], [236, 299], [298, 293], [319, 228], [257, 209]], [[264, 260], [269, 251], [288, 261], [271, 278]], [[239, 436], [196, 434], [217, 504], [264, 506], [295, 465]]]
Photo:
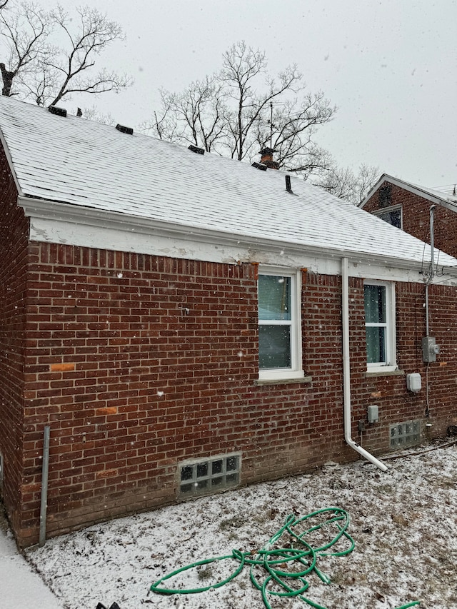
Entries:
[[9, 44], [9, 67], [0, 64], [4, 95], [53, 106], [74, 93], [120, 91], [131, 84], [127, 76], [95, 69], [106, 46], [123, 39], [119, 24], [89, 6], [76, 10], [79, 20], [61, 6], [44, 13], [23, 3], [0, 13], [0, 31]]

